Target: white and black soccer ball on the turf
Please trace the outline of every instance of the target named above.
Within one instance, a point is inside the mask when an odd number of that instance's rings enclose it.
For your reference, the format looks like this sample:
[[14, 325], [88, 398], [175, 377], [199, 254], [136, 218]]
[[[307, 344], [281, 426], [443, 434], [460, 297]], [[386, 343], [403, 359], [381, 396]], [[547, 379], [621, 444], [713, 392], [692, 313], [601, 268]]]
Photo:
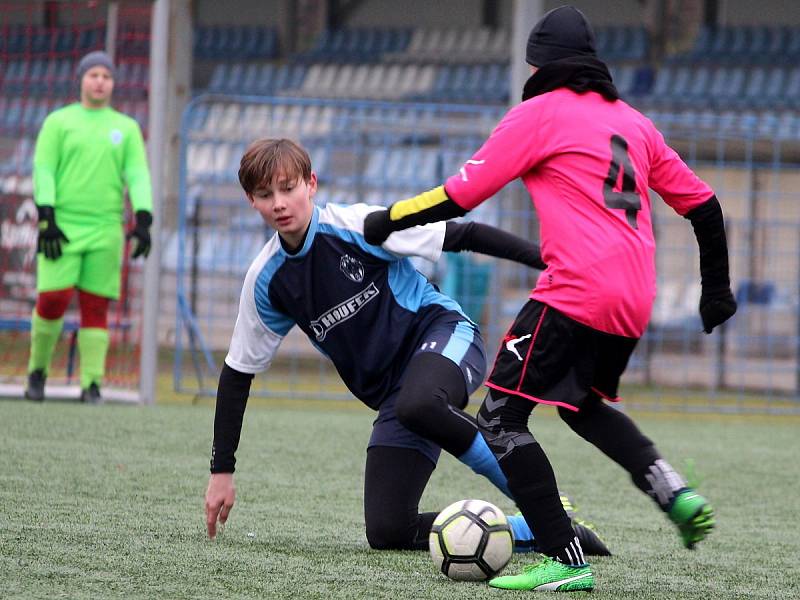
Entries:
[[483, 500], [459, 500], [445, 508], [433, 522], [428, 544], [436, 567], [458, 581], [493, 577], [514, 551], [508, 519]]

